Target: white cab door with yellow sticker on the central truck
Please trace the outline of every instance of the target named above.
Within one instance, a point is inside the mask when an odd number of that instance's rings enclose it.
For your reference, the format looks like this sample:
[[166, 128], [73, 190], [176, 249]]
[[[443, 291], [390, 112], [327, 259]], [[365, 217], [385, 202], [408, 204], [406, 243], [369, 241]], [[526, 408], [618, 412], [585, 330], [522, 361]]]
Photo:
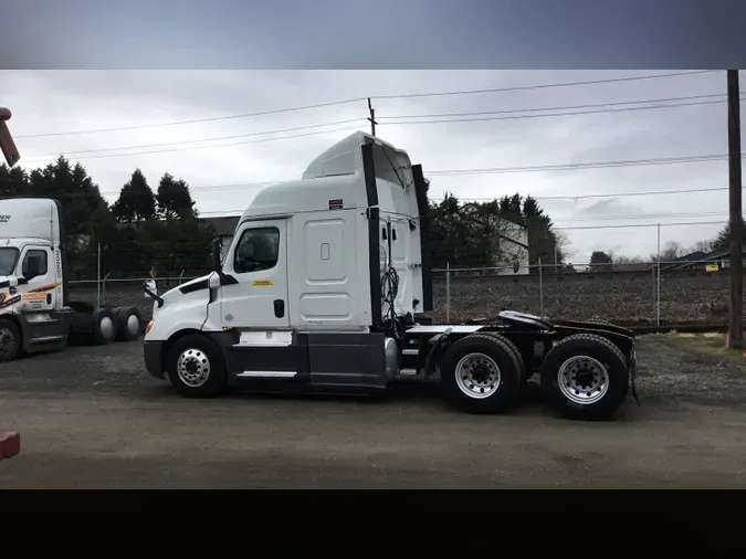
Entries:
[[237, 280], [220, 287], [223, 327], [290, 328], [287, 220], [241, 224], [225, 255], [223, 273]]

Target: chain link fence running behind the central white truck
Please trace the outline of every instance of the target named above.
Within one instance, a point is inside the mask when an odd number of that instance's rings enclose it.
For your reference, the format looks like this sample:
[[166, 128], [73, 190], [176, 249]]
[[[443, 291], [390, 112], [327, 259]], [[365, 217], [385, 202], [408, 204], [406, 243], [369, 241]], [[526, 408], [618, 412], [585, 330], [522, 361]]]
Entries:
[[[570, 272], [569, 270], [575, 270]], [[204, 271], [207, 273], [207, 271]], [[185, 271], [156, 276], [158, 293], [195, 276]], [[136, 305], [149, 316], [153, 300], [143, 294], [147, 272], [71, 281], [71, 297], [97, 306]], [[433, 318], [461, 323], [493, 318], [503, 309], [553, 319], [601, 318], [622, 325], [725, 324], [728, 262], [658, 262], [633, 270], [609, 265], [450, 267], [433, 271]]]

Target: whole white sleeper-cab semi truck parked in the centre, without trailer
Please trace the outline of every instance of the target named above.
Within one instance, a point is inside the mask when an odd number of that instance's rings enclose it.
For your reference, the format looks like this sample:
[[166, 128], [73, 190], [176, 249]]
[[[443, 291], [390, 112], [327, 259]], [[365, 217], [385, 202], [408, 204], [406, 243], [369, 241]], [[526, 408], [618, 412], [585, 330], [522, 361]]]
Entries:
[[[302, 179], [267, 187], [212, 272], [154, 299], [148, 371], [187, 397], [229, 388], [382, 394], [403, 376], [440, 377], [466, 412], [502, 411], [538, 373], [548, 401], [609, 419], [634, 394], [633, 334], [502, 312], [437, 325], [422, 168], [356, 133]], [[637, 398], [637, 395], [635, 395]]]

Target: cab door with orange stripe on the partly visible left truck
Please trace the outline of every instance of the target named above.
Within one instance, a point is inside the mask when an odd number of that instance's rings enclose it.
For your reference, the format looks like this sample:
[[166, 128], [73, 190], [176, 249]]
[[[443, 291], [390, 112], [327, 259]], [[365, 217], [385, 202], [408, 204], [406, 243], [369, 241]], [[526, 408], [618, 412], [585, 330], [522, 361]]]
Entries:
[[52, 249], [29, 245], [19, 259], [17, 277], [18, 291], [22, 295], [22, 307], [29, 312], [49, 312], [54, 309], [57, 297], [55, 270], [52, 265]]

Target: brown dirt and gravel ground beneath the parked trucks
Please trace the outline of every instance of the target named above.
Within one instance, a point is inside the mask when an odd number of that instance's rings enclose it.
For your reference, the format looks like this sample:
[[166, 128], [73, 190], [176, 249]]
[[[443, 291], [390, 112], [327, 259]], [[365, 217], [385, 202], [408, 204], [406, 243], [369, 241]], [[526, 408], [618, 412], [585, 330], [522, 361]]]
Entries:
[[382, 402], [183, 400], [140, 342], [70, 348], [0, 366], [0, 431], [22, 437], [0, 488], [744, 488], [746, 359], [721, 347], [640, 338], [642, 407], [609, 423], [554, 416], [535, 390], [465, 415], [414, 380]]

